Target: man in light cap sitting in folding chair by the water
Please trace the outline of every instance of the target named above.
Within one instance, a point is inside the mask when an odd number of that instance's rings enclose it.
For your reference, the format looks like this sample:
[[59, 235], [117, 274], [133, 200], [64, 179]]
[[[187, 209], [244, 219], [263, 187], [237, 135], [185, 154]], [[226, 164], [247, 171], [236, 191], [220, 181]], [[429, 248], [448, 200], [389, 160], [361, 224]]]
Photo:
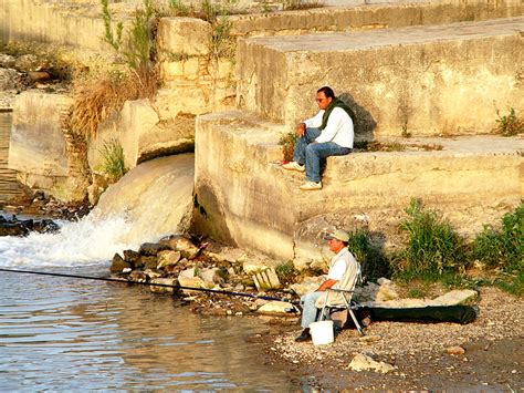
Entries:
[[295, 341], [307, 341], [311, 340], [310, 323], [316, 321], [317, 308], [315, 303], [324, 294], [326, 289], [329, 289], [337, 285], [346, 273], [348, 269], [358, 271], [358, 262], [355, 257], [347, 249], [347, 242], [349, 235], [344, 230], [335, 230], [327, 234], [324, 239], [329, 246], [329, 250], [336, 255], [329, 262], [329, 270], [327, 272], [327, 279], [324, 281], [314, 292], [308, 292], [301, 298], [302, 303], [302, 333]]

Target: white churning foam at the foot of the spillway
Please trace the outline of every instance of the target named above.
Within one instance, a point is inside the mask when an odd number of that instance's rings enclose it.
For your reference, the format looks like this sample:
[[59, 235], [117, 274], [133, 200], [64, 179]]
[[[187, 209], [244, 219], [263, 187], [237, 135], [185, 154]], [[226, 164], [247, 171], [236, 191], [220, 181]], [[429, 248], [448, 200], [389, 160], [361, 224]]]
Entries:
[[[80, 221], [57, 221], [57, 234], [36, 234], [27, 237], [0, 237], [0, 266], [70, 267], [107, 263], [115, 252], [137, 249], [139, 239], [132, 223], [120, 216], [103, 220], [84, 217]], [[120, 254], [122, 255], [122, 254]]]

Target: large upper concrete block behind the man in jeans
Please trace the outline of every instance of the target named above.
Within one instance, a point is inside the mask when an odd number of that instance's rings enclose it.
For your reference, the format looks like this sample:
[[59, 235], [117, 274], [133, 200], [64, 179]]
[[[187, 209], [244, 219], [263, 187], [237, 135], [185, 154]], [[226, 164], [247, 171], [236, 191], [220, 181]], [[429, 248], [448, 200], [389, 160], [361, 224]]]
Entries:
[[364, 137], [489, 133], [524, 111], [524, 17], [344, 33], [253, 38], [238, 52], [238, 102], [287, 130], [331, 85]]

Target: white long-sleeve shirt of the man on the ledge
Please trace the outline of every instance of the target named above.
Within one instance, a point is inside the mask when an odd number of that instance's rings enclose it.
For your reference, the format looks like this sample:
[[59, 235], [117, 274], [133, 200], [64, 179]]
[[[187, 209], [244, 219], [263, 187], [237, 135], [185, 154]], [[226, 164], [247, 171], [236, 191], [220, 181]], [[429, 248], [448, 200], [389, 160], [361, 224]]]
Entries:
[[[315, 116], [304, 121], [306, 127], [319, 127], [322, 125], [322, 116], [324, 110], [319, 111]], [[317, 143], [335, 142], [338, 146], [353, 148], [355, 132], [353, 128], [352, 117], [342, 107], [334, 107], [327, 118], [326, 127], [315, 139]]]

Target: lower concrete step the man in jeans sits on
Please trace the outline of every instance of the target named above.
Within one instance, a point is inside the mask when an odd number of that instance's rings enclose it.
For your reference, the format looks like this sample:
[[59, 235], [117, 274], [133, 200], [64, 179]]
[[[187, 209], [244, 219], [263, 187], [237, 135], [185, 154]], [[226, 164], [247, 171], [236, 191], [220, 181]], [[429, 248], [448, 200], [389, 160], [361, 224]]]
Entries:
[[[282, 126], [241, 111], [197, 118], [193, 230], [283, 260], [318, 257], [318, 234], [366, 221], [389, 244], [411, 198], [421, 198], [463, 234], [495, 224], [523, 197], [524, 138], [402, 139], [406, 152], [329, 157], [324, 187], [302, 192], [285, 170]], [[416, 146], [441, 145], [440, 151]]]

